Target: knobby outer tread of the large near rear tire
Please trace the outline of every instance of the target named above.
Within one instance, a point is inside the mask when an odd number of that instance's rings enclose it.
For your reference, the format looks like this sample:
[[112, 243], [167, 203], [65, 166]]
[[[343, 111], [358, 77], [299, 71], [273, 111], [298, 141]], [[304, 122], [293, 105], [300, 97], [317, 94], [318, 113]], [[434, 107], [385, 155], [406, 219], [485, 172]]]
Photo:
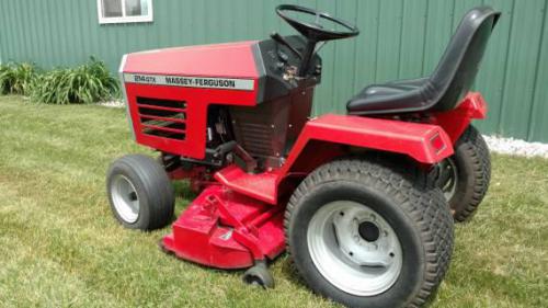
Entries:
[[321, 166], [301, 182], [287, 205], [284, 227], [289, 255], [292, 214], [307, 193], [333, 181], [359, 182], [393, 195], [401, 209], [415, 221], [424, 240], [426, 267], [422, 285], [407, 305], [423, 305], [442, 282], [453, 252], [453, 217], [441, 190], [434, 187], [418, 168], [386, 159], [375, 158], [372, 161], [351, 158]]

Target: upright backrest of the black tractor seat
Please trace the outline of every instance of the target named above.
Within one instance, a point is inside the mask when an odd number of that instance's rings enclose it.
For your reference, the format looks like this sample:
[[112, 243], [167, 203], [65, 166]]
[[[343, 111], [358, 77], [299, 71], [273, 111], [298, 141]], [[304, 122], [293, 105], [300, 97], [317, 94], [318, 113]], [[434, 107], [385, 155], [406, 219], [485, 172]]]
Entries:
[[486, 52], [487, 42], [501, 13], [490, 7], [470, 10], [460, 22], [430, 81], [438, 93], [432, 110], [456, 106], [470, 90]]

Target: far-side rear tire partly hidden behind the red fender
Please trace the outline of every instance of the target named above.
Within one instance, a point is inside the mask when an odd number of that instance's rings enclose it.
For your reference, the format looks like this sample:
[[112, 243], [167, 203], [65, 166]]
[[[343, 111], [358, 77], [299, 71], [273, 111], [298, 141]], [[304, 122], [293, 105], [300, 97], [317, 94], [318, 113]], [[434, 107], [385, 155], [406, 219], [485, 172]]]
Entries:
[[[455, 155], [443, 163], [456, 181], [446, 199], [456, 221], [469, 220], [486, 196], [491, 179], [489, 148], [481, 134], [469, 126], [455, 145]], [[448, 164], [447, 164], [448, 163]], [[443, 189], [444, 184], [439, 186]]]

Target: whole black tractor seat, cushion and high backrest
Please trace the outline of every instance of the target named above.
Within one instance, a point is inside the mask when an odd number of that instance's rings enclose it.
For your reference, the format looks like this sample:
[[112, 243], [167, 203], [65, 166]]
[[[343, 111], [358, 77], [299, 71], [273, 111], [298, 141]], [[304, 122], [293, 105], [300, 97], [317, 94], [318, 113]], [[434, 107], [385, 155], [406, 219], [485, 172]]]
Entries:
[[469, 11], [453, 35], [434, 73], [366, 87], [346, 104], [349, 114], [399, 114], [455, 109], [468, 93], [500, 12]]

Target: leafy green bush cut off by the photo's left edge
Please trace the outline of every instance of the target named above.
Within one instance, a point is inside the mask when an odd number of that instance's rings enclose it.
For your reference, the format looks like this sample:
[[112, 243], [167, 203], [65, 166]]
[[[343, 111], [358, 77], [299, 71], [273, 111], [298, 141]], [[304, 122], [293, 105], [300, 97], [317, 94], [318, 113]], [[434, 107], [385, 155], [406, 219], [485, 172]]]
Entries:
[[36, 84], [38, 69], [33, 64], [0, 66], [0, 93], [28, 96]]

